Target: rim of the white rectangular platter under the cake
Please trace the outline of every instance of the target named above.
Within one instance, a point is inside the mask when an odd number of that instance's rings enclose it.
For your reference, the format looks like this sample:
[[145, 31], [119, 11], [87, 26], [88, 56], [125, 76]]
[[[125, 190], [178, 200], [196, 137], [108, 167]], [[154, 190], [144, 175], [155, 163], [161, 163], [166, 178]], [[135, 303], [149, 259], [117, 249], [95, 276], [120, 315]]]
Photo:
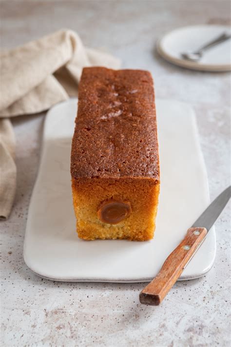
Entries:
[[[72, 98], [72, 99], [76, 99], [77, 98]], [[161, 99], [163, 100], [163, 99]], [[168, 99], [169, 101], [171, 101], [171, 99]], [[63, 102], [67, 102], [67, 101], [63, 101]], [[63, 103], [63, 102], [59, 102], [58, 104], [56, 104], [55, 106], [52, 107], [52, 109], [54, 109], [55, 107], [57, 107], [60, 103]], [[189, 105], [185, 102], [180, 102], [180, 103], [184, 103], [186, 105]], [[31, 195], [31, 199], [30, 199], [30, 204], [29, 204], [29, 209], [28, 209], [28, 219], [27, 219], [27, 224], [26, 224], [26, 230], [25, 230], [25, 235], [24, 235], [24, 245], [23, 245], [23, 258], [24, 258], [24, 262], [25, 264], [28, 266], [28, 268], [33, 271], [36, 275], [38, 275], [39, 277], [42, 277], [42, 278], [45, 278], [45, 279], [48, 279], [48, 280], [51, 280], [51, 281], [58, 281], [58, 282], [109, 282], [109, 283], [138, 283], [138, 282], [150, 282], [152, 281], [153, 278], [139, 278], [139, 279], [133, 279], [133, 280], [126, 280], [126, 279], [108, 279], [108, 278], [101, 278], [101, 279], [96, 279], [94, 277], [92, 278], [89, 278], [89, 279], [83, 279], [83, 278], [73, 278], [71, 279], [70, 277], [67, 279], [67, 278], [52, 278], [52, 277], [47, 277], [47, 276], [44, 276], [43, 274], [41, 273], [38, 273], [35, 269], [34, 269], [34, 266], [33, 265], [30, 265], [30, 261], [26, 258], [26, 244], [25, 244], [25, 240], [26, 240], [26, 234], [28, 231], [28, 221], [29, 219], [31, 218], [31, 213], [30, 213], [30, 210], [31, 210], [31, 203], [32, 203], [32, 200], [34, 199], [34, 195], [35, 195], [35, 191], [36, 191], [36, 187], [37, 187], [37, 184], [38, 184], [38, 178], [39, 178], [39, 175], [40, 175], [40, 170], [41, 170], [41, 163], [43, 161], [43, 158], [44, 158], [44, 155], [43, 155], [43, 152], [44, 152], [44, 134], [45, 134], [45, 129], [46, 129], [46, 122], [47, 122], [47, 119], [48, 119], [48, 116], [49, 116], [49, 113], [50, 113], [51, 109], [47, 112], [47, 115], [46, 115], [46, 118], [45, 118], [45, 121], [44, 121], [44, 124], [43, 124], [43, 134], [42, 134], [42, 145], [41, 145], [41, 154], [40, 154], [40, 159], [39, 159], [39, 170], [38, 170], [38, 174], [37, 174], [37, 178], [36, 178], [36, 183], [34, 185], [34, 188], [33, 188], [33, 192], [32, 192], [32, 195]], [[205, 161], [204, 161], [204, 157], [203, 157], [203, 154], [202, 154], [202, 151], [200, 149], [200, 142], [199, 142], [199, 132], [198, 132], [198, 127], [196, 125], [196, 117], [195, 117], [195, 114], [193, 114], [193, 127], [194, 127], [194, 136], [196, 137], [196, 147], [197, 147], [197, 151], [199, 154], [199, 158], [200, 158], [200, 161], [201, 161], [201, 165], [202, 165], [202, 171], [203, 171], [203, 176], [205, 177], [206, 179], [206, 182], [207, 182], [207, 196], [208, 196], [208, 201], [210, 201], [210, 194], [209, 194], [209, 183], [208, 183], [208, 176], [207, 176], [207, 171], [206, 171], [206, 165], [205, 165]], [[214, 226], [211, 228], [210, 230], [210, 233], [213, 233], [213, 237], [215, 239], [215, 230], [214, 230]], [[180, 278], [178, 279], [178, 281], [185, 281], [185, 280], [193, 280], [193, 279], [196, 279], [196, 278], [199, 278], [199, 277], [202, 277], [203, 275], [205, 275], [211, 268], [212, 268], [212, 265], [214, 263], [214, 260], [215, 260], [215, 255], [216, 255], [216, 239], [214, 240], [214, 246], [215, 246], [215, 249], [214, 249], [214, 252], [213, 252], [213, 259], [212, 259], [212, 263], [210, 266], [208, 266], [203, 272], [200, 272], [199, 274], [198, 273], [195, 273], [191, 276], [180, 276]]]

